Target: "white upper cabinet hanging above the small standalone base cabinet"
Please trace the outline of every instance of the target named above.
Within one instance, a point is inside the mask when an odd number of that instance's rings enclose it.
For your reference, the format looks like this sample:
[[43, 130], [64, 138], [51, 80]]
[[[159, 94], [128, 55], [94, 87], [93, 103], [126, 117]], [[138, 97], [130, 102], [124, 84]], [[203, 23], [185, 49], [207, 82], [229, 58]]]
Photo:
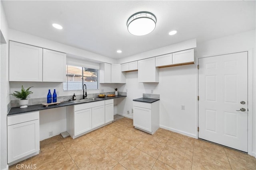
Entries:
[[138, 61], [138, 82], [159, 82], [159, 68], [155, 57]]

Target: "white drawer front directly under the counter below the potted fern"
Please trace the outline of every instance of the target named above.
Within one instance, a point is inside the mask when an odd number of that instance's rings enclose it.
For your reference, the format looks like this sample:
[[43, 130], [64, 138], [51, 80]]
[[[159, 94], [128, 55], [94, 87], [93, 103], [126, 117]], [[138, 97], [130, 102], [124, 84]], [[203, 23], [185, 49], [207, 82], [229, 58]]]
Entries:
[[39, 119], [39, 111], [7, 117], [7, 126]]

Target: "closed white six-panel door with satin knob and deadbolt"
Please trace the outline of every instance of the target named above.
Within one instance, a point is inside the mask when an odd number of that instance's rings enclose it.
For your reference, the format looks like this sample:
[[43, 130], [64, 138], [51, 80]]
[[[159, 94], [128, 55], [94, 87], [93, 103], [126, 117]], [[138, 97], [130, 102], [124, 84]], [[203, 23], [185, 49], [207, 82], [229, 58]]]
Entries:
[[199, 138], [247, 152], [247, 66], [247, 52], [199, 59]]

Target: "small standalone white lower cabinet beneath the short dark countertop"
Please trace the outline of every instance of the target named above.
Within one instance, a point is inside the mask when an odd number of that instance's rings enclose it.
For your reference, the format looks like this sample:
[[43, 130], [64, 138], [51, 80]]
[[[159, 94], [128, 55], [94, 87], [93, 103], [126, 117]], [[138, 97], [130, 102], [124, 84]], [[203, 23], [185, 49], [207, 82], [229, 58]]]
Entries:
[[153, 103], [133, 102], [133, 125], [150, 134], [159, 128], [159, 100]]

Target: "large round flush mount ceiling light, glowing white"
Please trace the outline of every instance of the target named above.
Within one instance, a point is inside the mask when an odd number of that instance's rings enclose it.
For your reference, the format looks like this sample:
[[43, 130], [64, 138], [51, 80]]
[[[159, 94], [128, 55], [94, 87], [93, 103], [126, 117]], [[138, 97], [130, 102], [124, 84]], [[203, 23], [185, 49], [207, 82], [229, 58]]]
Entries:
[[156, 16], [150, 12], [138, 12], [127, 20], [128, 31], [132, 35], [146, 35], [156, 27]]

